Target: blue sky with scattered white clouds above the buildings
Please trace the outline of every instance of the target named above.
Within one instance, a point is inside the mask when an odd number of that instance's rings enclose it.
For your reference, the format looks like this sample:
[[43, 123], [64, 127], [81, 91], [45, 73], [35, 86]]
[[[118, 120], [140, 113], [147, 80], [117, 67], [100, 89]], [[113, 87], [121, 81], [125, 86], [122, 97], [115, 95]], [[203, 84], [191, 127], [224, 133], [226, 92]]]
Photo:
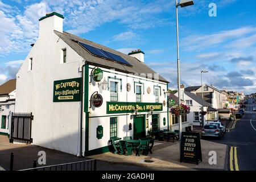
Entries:
[[[200, 85], [204, 68], [207, 84], [256, 92], [256, 1], [194, 2], [179, 7], [181, 83]], [[175, 0], [0, 0], [0, 84], [15, 77], [38, 37], [38, 19], [52, 11], [64, 15], [64, 31], [124, 53], [142, 49], [145, 63], [176, 88]]]

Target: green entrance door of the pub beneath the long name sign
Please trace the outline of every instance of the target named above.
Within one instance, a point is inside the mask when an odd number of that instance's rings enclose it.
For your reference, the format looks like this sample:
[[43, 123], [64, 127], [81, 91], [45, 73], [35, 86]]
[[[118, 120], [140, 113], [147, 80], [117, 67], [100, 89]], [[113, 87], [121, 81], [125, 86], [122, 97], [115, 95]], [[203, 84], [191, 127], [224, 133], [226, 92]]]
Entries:
[[139, 139], [146, 137], [146, 127], [145, 127], [145, 116], [137, 115], [133, 119], [133, 138]]

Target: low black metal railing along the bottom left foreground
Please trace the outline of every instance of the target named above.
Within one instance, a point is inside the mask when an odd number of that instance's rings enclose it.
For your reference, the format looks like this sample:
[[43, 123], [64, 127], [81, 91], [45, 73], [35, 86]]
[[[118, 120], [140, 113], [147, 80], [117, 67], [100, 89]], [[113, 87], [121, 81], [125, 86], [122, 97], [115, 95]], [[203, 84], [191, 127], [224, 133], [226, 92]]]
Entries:
[[95, 159], [42, 167], [37, 167], [36, 160], [34, 160], [33, 168], [22, 169], [19, 171], [96, 171], [96, 169], [97, 161]]

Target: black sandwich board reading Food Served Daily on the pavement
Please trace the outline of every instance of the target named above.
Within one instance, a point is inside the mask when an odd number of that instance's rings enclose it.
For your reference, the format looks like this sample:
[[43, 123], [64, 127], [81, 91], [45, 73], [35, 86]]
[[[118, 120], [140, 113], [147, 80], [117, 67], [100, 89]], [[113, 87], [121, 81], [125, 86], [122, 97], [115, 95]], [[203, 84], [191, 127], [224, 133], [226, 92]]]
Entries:
[[180, 162], [202, 162], [200, 133], [182, 132]]

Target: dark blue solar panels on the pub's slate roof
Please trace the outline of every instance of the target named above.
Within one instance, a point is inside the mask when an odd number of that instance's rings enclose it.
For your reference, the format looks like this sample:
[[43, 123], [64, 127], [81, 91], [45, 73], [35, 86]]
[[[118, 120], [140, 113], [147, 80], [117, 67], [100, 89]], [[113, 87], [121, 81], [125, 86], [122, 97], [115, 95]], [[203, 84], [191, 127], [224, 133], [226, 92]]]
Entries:
[[125, 59], [123, 59], [119, 55], [115, 55], [114, 53], [111, 53], [111, 52], [108, 52], [108, 51], [104, 51], [104, 50], [98, 49], [98, 48], [93, 47], [93, 46], [89, 46], [88, 44], [85, 44], [85, 43], [79, 42], [79, 44], [82, 47], [84, 47], [85, 49], [87, 49], [93, 55], [104, 57], [104, 58], [110, 59], [110, 60], [114, 60], [114, 61], [117, 61], [118, 63], [126, 64], [126, 65], [129, 65], [129, 66], [133, 66], [133, 65], [128, 63]]

